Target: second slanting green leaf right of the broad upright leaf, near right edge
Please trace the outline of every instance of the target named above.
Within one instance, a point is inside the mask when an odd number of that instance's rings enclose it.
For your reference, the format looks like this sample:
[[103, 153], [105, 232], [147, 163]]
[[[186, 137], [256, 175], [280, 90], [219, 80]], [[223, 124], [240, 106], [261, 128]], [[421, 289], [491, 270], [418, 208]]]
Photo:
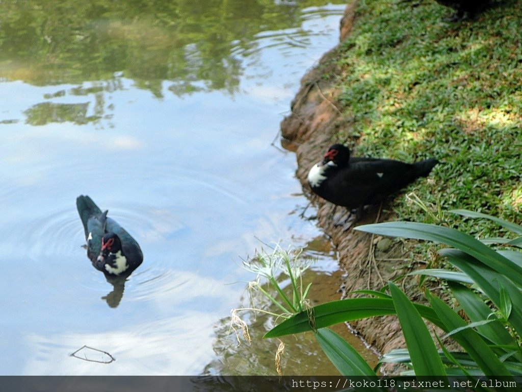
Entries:
[[[450, 283], [449, 288], [472, 322], [479, 322], [489, 318], [492, 310], [468, 287]], [[493, 344], [517, 347], [515, 339], [509, 335], [509, 332], [507, 332], [499, 320], [493, 320], [488, 325], [478, 326], [477, 331]], [[520, 356], [518, 358], [522, 359]]]

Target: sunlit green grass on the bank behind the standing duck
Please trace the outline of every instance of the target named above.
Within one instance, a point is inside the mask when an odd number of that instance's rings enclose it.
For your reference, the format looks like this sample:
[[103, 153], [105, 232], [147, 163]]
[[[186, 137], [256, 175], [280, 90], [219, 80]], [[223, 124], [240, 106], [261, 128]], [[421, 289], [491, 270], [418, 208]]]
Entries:
[[[522, 3], [444, 22], [451, 14], [431, 0], [358, 1], [354, 29], [331, 59], [340, 75], [325, 75], [354, 118], [335, 139], [354, 146], [354, 155], [434, 156], [442, 164], [432, 180], [409, 188], [433, 210], [466, 208], [520, 223]], [[404, 196], [392, 207], [400, 220], [426, 221]], [[481, 237], [502, 232], [487, 221], [455, 225]]]

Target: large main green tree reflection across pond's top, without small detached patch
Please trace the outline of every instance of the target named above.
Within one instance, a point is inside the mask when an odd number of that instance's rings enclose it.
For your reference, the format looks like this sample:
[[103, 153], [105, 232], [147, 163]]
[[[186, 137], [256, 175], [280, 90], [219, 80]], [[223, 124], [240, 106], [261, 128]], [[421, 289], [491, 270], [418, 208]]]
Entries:
[[[277, 3], [277, 4], [275, 4]], [[300, 24], [303, 7], [323, 1], [27, 0], [2, 3], [0, 78], [35, 85], [113, 80], [115, 72], [162, 95], [201, 89], [233, 93], [237, 55], [256, 34]]]

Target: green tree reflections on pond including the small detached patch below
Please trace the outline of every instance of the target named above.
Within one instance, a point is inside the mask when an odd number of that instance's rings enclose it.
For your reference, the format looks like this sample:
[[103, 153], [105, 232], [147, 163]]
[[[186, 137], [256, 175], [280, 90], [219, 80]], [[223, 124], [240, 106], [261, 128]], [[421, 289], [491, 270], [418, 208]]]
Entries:
[[[203, 5], [204, 4], [204, 5]], [[0, 23], [0, 80], [46, 86], [77, 86], [45, 93], [47, 102], [25, 108], [25, 122], [89, 122], [112, 126], [111, 95], [132, 85], [163, 98], [210, 90], [240, 91], [240, 81], [262, 63], [263, 53], [305, 50], [318, 34], [303, 28], [309, 18], [338, 15], [317, 0], [226, 3], [156, 2], [148, 6], [9, 2]], [[64, 14], [65, 13], [65, 14]], [[42, 28], [36, 28], [41, 26]], [[285, 29], [281, 33], [281, 29]], [[266, 77], [270, 68], [258, 70]], [[75, 101], [74, 97], [88, 101]], [[69, 102], [63, 102], [67, 100]], [[72, 101], [72, 102], [71, 102]], [[12, 123], [17, 119], [2, 119]]]

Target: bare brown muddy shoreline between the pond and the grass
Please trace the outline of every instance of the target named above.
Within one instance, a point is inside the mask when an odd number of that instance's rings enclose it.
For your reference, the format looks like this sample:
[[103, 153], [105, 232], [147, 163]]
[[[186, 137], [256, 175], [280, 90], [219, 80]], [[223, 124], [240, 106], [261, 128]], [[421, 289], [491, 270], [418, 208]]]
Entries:
[[[349, 3], [345, 15], [340, 22], [340, 42], [350, 33], [354, 23], [357, 23], [355, 7], [357, 0]], [[339, 268], [345, 271], [346, 279], [340, 282], [343, 297], [354, 290], [378, 290], [386, 282], [407, 273], [411, 260], [408, 244], [402, 240], [383, 239], [367, 233], [357, 232], [353, 227], [336, 226], [333, 221], [343, 213], [337, 209], [332, 219], [334, 205], [316, 197], [310, 191], [306, 181], [310, 167], [319, 160], [326, 148], [339, 142], [336, 139], [338, 130], [346, 130], [351, 126], [352, 118], [349, 110], [342, 110], [336, 97], [339, 91], [336, 87], [336, 75], [339, 70], [328, 65], [329, 60], [336, 56], [337, 47], [323, 55], [319, 64], [301, 79], [301, 87], [291, 105], [291, 114], [281, 122], [281, 144], [295, 151], [298, 169], [296, 176], [301, 181], [305, 195], [317, 208], [317, 216], [309, 209], [306, 216], [316, 218], [317, 225], [331, 238], [339, 255]], [[329, 75], [325, 77], [325, 75]], [[344, 141], [340, 141], [344, 142]], [[377, 211], [378, 207], [367, 212], [356, 225], [393, 220], [393, 212]], [[406, 293], [414, 293], [414, 280], [399, 282]], [[339, 287], [332, 287], [338, 290]], [[411, 298], [411, 296], [410, 296]], [[414, 299], [414, 297], [412, 298]], [[405, 347], [404, 338], [396, 317], [379, 317], [350, 323], [361, 337], [380, 353]], [[392, 368], [388, 371], [393, 373]]]

